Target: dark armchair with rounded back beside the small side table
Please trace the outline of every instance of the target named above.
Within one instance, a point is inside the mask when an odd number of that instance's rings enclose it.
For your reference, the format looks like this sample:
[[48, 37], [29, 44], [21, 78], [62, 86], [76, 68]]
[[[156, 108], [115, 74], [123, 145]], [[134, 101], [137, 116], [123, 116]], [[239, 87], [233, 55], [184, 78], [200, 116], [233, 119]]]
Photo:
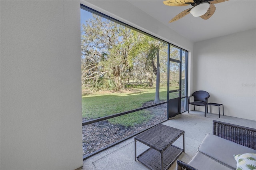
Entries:
[[[194, 97], [194, 101], [190, 102], [190, 97]], [[209, 93], [206, 91], [195, 91], [192, 95], [188, 97], [188, 113], [189, 113], [189, 105], [194, 105], [194, 110], [195, 106], [204, 106], [204, 116], [206, 117], [207, 113], [207, 103], [208, 103], [208, 98], [210, 97]]]

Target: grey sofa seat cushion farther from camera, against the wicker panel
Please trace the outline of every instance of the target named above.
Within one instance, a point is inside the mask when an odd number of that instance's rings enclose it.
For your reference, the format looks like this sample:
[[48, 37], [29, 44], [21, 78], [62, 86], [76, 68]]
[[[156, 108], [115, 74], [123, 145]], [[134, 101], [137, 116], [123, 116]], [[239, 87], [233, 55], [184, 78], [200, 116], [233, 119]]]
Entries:
[[230, 140], [226, 140], [213, 134], [206, 134], [206, 137], [200, 144], [198, 151], [220, 160], [224, 164], [233, 168], [236, 168], [234, 155], [242, 153], [256, 153], [256, 150], [254, 149], [231, 142]]

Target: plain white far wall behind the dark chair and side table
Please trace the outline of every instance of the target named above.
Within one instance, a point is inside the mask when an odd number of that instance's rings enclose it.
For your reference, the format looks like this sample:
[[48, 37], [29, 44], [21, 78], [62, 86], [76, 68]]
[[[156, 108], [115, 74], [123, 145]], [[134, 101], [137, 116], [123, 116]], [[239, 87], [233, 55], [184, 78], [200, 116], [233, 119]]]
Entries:
[[255, 29], [194, 43], [193, 68], [193, 91], [208, 91], [224, 115], [256, 121]]

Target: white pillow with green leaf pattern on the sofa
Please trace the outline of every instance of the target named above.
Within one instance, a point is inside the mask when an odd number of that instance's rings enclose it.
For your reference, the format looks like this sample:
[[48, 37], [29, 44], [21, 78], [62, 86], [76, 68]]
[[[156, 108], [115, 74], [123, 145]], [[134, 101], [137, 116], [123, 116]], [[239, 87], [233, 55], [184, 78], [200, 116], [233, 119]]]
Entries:
[[256, 154], [234, 155], [236, 170], [256, 170]]

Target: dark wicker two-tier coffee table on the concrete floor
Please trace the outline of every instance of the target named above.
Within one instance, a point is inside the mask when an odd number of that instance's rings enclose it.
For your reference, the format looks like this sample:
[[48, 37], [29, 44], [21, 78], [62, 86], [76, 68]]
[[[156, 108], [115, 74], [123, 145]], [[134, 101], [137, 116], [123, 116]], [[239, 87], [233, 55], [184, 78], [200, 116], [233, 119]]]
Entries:
[[[134, 137], [135, 161], [136, 158], [142, 164], [152, 170], [165, 170], [175, 162], [175, 160], [184, 152], [184, 131], [158, 124], [145, 132]], [[183, 149], [172, 145], [172, 143], [183, 135]], [[136, 155], [136, 141], [146, 144], [150, 148]]]

